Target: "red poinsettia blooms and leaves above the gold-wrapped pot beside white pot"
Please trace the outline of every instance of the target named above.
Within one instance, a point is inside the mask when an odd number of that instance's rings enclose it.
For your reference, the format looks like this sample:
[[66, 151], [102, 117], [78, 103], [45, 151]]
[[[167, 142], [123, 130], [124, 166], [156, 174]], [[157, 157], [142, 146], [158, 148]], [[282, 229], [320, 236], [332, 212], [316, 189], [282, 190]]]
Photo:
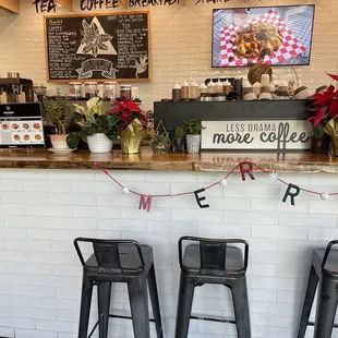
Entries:
[[133, 100], [114, 101], [112, 106], [107, 113], [113, 114], [118, 120], [116, 124], [118, 131], [125, 130], [136, 119], [144, 129], [148, 126], [148, 117]]

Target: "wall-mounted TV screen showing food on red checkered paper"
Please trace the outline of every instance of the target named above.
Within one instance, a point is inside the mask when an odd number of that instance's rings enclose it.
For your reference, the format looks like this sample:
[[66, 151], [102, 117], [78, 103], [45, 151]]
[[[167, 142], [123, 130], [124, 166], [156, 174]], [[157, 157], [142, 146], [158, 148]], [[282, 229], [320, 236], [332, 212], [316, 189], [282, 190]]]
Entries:
[[213, 68], [310, 64], [315, 5], [213, 12]]

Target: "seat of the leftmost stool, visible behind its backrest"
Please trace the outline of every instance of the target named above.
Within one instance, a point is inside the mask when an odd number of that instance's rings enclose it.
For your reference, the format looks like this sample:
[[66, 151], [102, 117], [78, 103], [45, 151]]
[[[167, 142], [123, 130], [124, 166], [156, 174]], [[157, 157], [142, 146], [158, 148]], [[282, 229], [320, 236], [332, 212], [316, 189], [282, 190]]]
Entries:
[[[153, 248], [149, 245], [140, 245], [143, 259], [145, 263], [145, 266], [148, 266], [149, 262], [153, 261]], [[134, 244], [118, 244], [118, 251], [119, 251], [119, 259], [120, 265], [122, 269], [128, 270], [140, 270], [142, 269], [142, 262], [140, 258], [140, 254], [137, 252], [137, 248]], [[99, 265], [96, 259], [96, 255], [93, 254], [87, 261], [86, 261], [87, 268], [98, 268]], [[111, 273], [111, 271], [110, 271]]]

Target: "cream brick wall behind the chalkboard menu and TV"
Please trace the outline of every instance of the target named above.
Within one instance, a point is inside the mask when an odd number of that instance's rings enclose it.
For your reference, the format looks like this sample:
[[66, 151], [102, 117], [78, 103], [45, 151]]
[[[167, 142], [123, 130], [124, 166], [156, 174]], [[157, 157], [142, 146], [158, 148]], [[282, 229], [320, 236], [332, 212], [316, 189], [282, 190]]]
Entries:
[[[213, 8], [248, 7], [248, 3], [243, 0], [200, 5], [194, 5], [195, 0], [180, 2], [180, 5], [150, 9], [153, 81], [137, 84], [145, 109], [150, 109], [154, 100], [170, 97], [172, 85], [184, 79], [193, 77], [201, 82], [209, 76], [245, 76], [248, 71], [210, 68]], [[184, 2], [186, 7], [183, 5]], [[73, 3], [74, 11], [80, 12], [79, 0]], [[333, 38], [338, 28], [338, 0], [251, 1], [251, 5], [297, 3], [317, 4], [311, 65], [295, 69], [301, 83], [315, 88], [329, 83], [325, 72], [338, 71], [338, 47]], [[43, 14], [35, 13], [31, 0], [21, 0], [21, 9], [19, 16], [3, 13], [0, 16], [0, 48], [3, 51], [0, 55], [0, 74], [19, 71], [23, 77], [33, 79], [36, 85], [46, 84]], [[69, 13], [63, 9], [59, 11]], [[117, 11], [125, 10], [120, 4]], [[294, 74], [289, 68], [277, 68], [275, 77], [294, 80]], [[57, 87], [68, 92], [67, 85], [48, 84], [49, 94], [53, 95]]]

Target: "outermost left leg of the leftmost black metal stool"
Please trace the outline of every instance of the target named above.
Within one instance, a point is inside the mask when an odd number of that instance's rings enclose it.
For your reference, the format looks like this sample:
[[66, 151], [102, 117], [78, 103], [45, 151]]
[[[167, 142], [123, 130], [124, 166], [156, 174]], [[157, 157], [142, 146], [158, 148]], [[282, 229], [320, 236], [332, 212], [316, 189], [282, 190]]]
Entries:
[[87, 338], [90, 304], [92, 304], [93, 283], [85, 275], [82, 279], [82, 294], [79, 321], [79, 338]]

